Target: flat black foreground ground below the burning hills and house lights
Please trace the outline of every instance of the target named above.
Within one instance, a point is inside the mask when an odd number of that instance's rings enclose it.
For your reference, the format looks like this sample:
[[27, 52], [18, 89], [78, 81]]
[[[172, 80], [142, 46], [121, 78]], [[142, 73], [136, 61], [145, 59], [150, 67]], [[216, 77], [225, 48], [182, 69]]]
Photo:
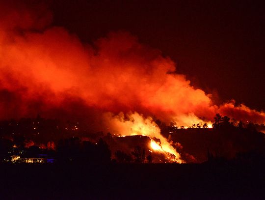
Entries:
[[1, 164], [0, 199], [264, 199], [265, 165]]

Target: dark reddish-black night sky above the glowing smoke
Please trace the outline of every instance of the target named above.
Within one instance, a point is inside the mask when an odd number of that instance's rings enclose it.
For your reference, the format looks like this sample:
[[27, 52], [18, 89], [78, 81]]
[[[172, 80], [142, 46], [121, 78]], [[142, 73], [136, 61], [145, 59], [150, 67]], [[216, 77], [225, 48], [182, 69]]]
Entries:
[[83, 42], [129, 31], [174, 60], [177, 72], [217, 103], [265, 108], [265, 2], [54, 0], [50, 6], [53, 25]]

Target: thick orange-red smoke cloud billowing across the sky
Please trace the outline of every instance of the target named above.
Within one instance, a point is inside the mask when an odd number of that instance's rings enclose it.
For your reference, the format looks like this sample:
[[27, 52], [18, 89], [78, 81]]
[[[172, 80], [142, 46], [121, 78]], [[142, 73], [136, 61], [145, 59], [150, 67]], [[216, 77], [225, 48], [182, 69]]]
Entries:
[[52, 15], [43, 5], [2, 5], [0, 13], [1, 119], [41, 114], [100, 124], [105, 112], [138, 112], [189, 126], [220, 113], [265, 123], [263, 112], [233, 101], [214, 105], [211, 94], [176, 73], [169, 57], [128, 32], [82, 44], [49, 26]]

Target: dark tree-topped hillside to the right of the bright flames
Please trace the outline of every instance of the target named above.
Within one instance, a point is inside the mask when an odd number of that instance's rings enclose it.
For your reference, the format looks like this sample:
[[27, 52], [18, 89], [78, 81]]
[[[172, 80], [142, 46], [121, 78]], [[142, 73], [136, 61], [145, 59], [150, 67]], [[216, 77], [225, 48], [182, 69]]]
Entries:
[[263, 124], [251, 122], [244, 124], [241, 121], [234, 123], [228, 116], [216, 114], [212, 126], [211, 129], [167, 127], [166, 131], [162, 132], [173, 142], [181, 143], [183, 149], [179, 152], [194, 156], [195, 162], [217, 158], [224, 160], [265, 158], [265, 135], [258, 131], [264, 130]]

